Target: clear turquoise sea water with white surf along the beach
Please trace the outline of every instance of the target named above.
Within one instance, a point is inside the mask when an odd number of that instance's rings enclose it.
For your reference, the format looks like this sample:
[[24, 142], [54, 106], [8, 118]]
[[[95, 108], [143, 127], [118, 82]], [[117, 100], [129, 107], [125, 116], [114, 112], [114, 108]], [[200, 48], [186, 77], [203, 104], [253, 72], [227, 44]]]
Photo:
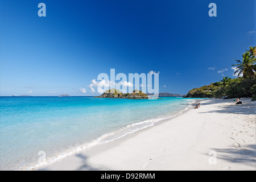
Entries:
[[1, 170], [32, 169], [174, 117], [192, 100], [0, 97]]

